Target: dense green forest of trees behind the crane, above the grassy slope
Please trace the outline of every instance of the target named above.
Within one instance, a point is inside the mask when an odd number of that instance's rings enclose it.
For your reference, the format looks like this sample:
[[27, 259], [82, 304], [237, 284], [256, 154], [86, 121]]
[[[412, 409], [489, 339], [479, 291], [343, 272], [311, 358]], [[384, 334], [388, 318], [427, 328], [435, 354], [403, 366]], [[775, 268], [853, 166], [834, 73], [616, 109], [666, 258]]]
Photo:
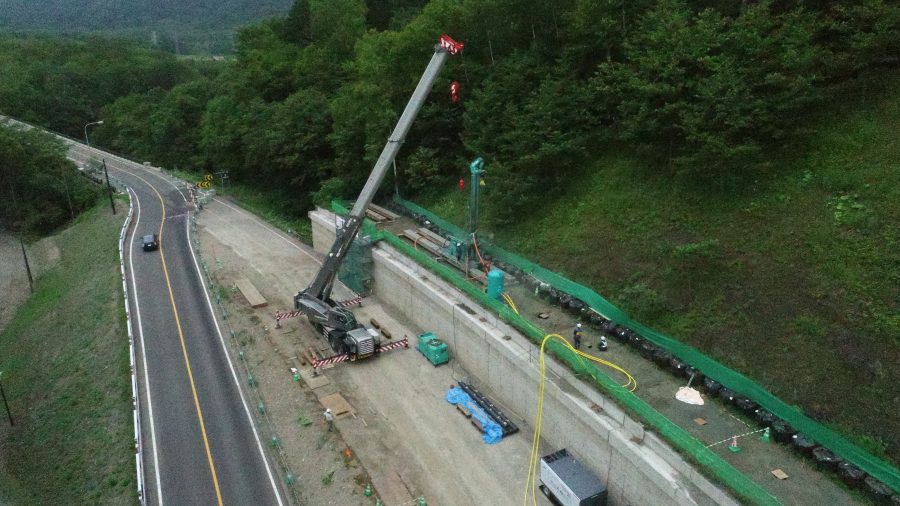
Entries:
[[[0, 39], [0, 111], [169, 168], [227, 170], [286, 210], [354, 194], [441, 33], [464, 41], [398, 159], [406, 192], [491, 161], [513, 219], [598, 150], [707, 189], [777, 170], [829, 86], [896, 67], [883, 0], [297, 0], [227, 63], [114, 40]], [[452, 104], [448, 84], [462, 83]], [[287, 198], [287, 197], [290, 198]]]

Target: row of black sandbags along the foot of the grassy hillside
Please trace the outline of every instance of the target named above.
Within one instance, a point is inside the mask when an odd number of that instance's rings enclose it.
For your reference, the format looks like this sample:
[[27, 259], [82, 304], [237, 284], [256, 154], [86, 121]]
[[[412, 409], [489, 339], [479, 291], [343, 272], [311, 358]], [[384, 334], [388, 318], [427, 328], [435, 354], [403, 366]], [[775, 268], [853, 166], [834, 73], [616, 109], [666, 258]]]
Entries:
[[[414, 216], [414, 218], [416, 218]], [[424, 222], [423, 217], [418, 217]], [[430, 222], [427, 225], [434, 226]], [[431, 229], [429, 227], [429, 229]], [[440, 233], [439, 230], [433, 230]], [[512, 265], [497, 262], [497, 267], [514, 275], [522, 275], [524, 272]], [[718, 397], [725, 404], [729, 404], [756, 420], [762, 427], [769, 427], [775, 441], [790, 445], [801, 455], [812, 458], [816, 465], [823, 470], [837, 472], [841, 480], [850, 488], [864, 488], [879, 503], [894, 503], [900, 506], [900, 494], [893, 494], [887, 485], [868, 476], [862, 469], [844, 461], [824, 446], [819, 446], [809, 436], [797, 432], [789, 424], [779, 419], [769, 411], [762, 409], [752, 399], [739, 395], [725, 388], [713, 378], [706, 377], [698, 369], [673, 356], [672, 353], [647, 341], [634, 330], [618, 325], [590, 309], [587, 303], [572, 295], [543, 283], [532, 276], [520, 276], [519, 279], [535, 293], [552, 305], [558, 306], [578, 317], [582, 322], [602, 331], [623, 344], [634, 348], [642, 357], [651, 360], [658, 366], [668, 369], [672, 374], [681, 378], [691, 378], [692, 384], [700, 386], [707, 394]]]

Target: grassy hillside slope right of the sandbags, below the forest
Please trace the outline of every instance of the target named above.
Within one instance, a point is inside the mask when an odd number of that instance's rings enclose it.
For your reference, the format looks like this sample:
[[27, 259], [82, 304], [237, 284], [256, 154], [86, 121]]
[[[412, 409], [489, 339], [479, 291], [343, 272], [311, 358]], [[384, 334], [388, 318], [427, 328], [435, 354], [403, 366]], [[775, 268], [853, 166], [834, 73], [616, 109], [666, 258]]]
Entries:
[[[896, 463], [900, 78], [882, 85], [893, 91], [838, 93], [801, 154], [738, 194], [685, 188], [611, 152], [497, 242]], [[457, 223], [465, 205], [460, 192], [431, 203]]]

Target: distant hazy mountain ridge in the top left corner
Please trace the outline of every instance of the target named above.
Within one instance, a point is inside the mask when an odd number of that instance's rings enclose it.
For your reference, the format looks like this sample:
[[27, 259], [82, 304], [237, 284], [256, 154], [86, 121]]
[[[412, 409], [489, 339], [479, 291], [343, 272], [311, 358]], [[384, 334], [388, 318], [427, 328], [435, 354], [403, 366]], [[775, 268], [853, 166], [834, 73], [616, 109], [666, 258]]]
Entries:
[[0, 0], [0, 29], [53, 32], [233, 28], [284, 15], [292, 0]]

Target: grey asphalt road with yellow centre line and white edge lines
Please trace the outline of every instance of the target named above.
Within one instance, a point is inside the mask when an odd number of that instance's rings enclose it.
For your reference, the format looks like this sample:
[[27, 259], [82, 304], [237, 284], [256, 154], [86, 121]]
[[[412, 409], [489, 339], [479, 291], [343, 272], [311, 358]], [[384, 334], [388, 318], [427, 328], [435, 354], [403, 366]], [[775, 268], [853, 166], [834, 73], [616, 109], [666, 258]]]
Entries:
[[[190, 247], [187, 189], [157, 169], [67, 142], [76, 163], [105, 159], [134, 204], [125, 265], [148, 504], [287, 503]], [[145, 252], [141, 236], [153, 233], [160, 248]]]

